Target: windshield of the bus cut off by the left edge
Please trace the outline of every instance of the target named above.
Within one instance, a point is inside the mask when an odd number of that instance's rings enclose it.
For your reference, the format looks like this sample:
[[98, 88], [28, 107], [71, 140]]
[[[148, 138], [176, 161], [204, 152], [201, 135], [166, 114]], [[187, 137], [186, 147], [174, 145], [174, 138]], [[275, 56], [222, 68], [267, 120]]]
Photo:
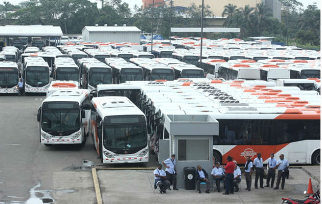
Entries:
[[18, 84], [18, 72], [14, 68], [0, 68], [0, 87], [14, 87]]

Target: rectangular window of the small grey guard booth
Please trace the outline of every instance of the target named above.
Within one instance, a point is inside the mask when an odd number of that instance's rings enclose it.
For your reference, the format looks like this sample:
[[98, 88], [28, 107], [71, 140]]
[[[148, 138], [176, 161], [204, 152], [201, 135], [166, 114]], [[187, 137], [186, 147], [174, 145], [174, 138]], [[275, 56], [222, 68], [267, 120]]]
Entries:
[[179, 161], [209, 161], [209, 139], [179, 139]]

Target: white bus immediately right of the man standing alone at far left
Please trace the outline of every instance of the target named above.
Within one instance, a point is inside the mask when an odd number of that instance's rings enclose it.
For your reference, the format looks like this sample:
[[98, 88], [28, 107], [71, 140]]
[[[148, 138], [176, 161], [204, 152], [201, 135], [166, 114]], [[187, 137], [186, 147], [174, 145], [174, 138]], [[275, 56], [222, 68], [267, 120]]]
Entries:
[[46, 93], [50, 84], [49, 74], [47, 62], [28, 62], [24, 69], [25, 92]]

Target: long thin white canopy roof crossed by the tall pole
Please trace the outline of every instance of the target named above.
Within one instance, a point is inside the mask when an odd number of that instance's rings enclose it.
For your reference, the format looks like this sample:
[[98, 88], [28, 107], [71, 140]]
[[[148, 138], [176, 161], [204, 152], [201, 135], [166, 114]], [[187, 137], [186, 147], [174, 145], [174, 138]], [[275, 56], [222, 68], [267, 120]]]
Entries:
[[[200, 33], [201, 28], [171, 28], [173, 33]], [[203, 28], [203, 33], [240, 33], [240, 28]]]

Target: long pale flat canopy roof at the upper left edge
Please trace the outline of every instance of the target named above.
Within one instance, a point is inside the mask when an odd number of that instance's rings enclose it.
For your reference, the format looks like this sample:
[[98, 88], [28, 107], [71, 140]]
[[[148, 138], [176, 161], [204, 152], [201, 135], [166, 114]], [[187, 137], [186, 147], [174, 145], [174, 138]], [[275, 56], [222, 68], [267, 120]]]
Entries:
[[6, 25], [0, 27], [0, 36], [62, 36], [59, 26], [53, 25]]

